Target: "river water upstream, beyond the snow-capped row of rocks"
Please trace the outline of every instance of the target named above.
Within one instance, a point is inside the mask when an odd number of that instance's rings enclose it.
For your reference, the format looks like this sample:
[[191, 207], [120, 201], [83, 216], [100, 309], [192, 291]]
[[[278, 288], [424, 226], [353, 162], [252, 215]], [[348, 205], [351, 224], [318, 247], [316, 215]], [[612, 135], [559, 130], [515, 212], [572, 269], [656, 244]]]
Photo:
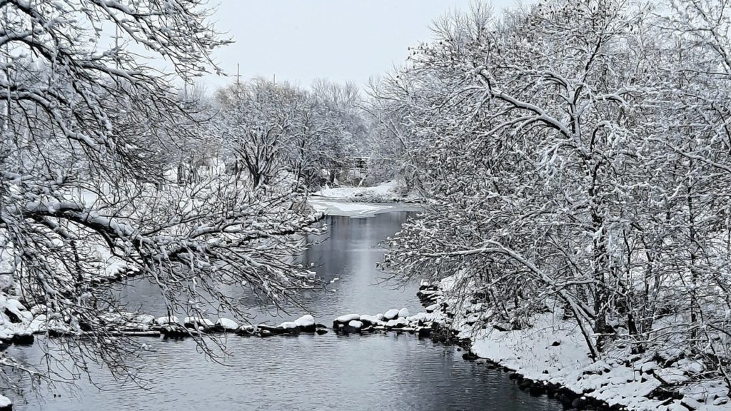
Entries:
[[[393, 235], [407, 215], [401, 211], [360, 219], [328, 216], [328, 234], [311, 239], [319, 243], [300, 257], [303, 264], [314, 265], [313, 271], [325, 283], [326, 290], [303, 293], [302, 308], [285, 306], [286, 312], [279, 314], [274, 306], [262, 311], [254, 298], [247, 298], [238, 290], [237, 297], [251, 313], [251, 322], [278, 323], [282, 317], [291, 319], [310, 312], [318, 321], [329, 324], [333, 318], [352, 312], [376, 314], [404, 306], [412, 312], [419, 311], [415, 282], [406, 286], [385, 284], [385, 275], [376, 269], [376, 262], [383, 255], [379, 243]], [[334, 279], [337, 280], [333, 282]], [[143, 312], [155, 316], [167, 315], [159, 295], [156, 284], [147, 280], [132, 280], [120, 292], [122, 301], [130, 307], [141, 306]]]

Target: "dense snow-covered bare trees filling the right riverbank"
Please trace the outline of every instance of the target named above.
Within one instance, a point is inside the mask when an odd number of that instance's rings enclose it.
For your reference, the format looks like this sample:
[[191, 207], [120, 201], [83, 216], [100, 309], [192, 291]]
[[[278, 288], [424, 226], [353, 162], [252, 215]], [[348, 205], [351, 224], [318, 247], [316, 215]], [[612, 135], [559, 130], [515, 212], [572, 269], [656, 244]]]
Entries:
[[730, 24], [697, 0], [437, 21], [377, 90], [431, 199], [385, 268], [450, 276], [476, 326], [570, 326], [594, 361], [692, 358], [730, 390]]

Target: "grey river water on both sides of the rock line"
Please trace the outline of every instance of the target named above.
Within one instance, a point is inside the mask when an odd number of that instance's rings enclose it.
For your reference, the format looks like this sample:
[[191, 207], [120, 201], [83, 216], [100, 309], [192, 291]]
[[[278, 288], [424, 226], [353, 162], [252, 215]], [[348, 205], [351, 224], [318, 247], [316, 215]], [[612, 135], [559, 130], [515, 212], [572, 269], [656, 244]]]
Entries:
[[[390, 308], [420, 311], [416, 284], [383, 284], [376, 270], [379, 243], [398, 231], [405, 212], [370, 218], [327, 217], [329, 239], [303, 256], [329, 284], [303, 295], [303, 306], [318, 322], [330, 325], [348, 313], [376, 314]], [[330, 281], [338, 278], [330, 284]], [[145, 312], [164, 315], [154, 287], [129, 284], [123, 298]], [[255, 320], [296, 318], [300, 312], [260, 312]], [[80, 380], [74, 393], [41, 388], [39, 396], [15, 399], [15, 410], [504, 410], [553, 411], [561, 407], [531, 397], [497, 370], [463, 361], [454, 347], [409, 334], [368, 336], [300, 335], [268, 339], [232, 336], [223, 364], [197, 352], [191, 339], [147, 338], [150, 350], [130, 358], [149, 379], [146, 389], [113, 380], [92, 366], [92, 382]], [[39, 344], [12, 347], [12, 355], [42, 361]], [[26, 390], [24, 390], [26, 391]]]

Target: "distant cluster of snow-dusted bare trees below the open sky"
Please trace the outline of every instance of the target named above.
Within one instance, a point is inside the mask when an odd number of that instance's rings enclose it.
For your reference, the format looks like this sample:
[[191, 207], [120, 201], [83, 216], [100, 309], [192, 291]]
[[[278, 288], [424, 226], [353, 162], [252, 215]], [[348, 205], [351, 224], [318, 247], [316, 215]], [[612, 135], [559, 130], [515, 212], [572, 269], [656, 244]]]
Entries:
[[267, 183], [287, 168], [308, 187], [326, 183], [366, 135], [357, 88], [318, 80], [312, 90], [254, 79], [217, 92], [219, 132], [234, 173]]

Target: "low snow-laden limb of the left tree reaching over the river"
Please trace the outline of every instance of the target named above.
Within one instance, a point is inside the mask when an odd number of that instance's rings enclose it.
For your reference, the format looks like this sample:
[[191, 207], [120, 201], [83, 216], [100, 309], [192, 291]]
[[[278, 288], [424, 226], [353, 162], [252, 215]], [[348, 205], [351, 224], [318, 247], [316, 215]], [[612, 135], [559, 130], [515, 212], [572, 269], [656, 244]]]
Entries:
[[[286, 191], [232, 195], [245, 190], [235, 181], [211, 180], [164, 191], [150, 188], [139, 198], [129, 199], [115, 215], [58, 201], [8, 207], [3, 215], [6, 221], [15, 219], [15, 224], [28, 224], [35, 230], [44, 230], [33, 224], [37, 219], [53, 218], [69, 232], [86, 236], [87, 241], [98, 238], [115, 257], [143, 275], [151, 275], [166, 296], [184, 291], [189, 301], [195, 301], [196, 295], [205, 291], [229, 304], [230, 300], [216, 291], [225, 283], [249, 287], [261, 298], [279, 301], [288, 298], [290, 290], [311, 287], [313, 276], [298, 268], [292, 255], [306, 246], [298, 235], [317, 233], [317, 215], [289, 209], [292, 199]], [[227, 211], [211, 211], [221, 208]], [[140, 209], [147, 213], [140, 215]], [[64, 248], [58, 247], [48, 257], [63, 258], [63, 254]], [[77, 271], [83, 272], [82, 263], [77, 261]], [[183, 268], [193, 273], [183, 274]], [[280, 276], [282, 270], [289, 269], [293, 270], [290, 278]], [[64, 270], [57, 271], [56, 276], [63, 276]], [[204, 274], [196, 282], [185, 288], [173, 285], [186, 283], [196, 271]], [[72, 278], [71, 273], [68, 276]]]

